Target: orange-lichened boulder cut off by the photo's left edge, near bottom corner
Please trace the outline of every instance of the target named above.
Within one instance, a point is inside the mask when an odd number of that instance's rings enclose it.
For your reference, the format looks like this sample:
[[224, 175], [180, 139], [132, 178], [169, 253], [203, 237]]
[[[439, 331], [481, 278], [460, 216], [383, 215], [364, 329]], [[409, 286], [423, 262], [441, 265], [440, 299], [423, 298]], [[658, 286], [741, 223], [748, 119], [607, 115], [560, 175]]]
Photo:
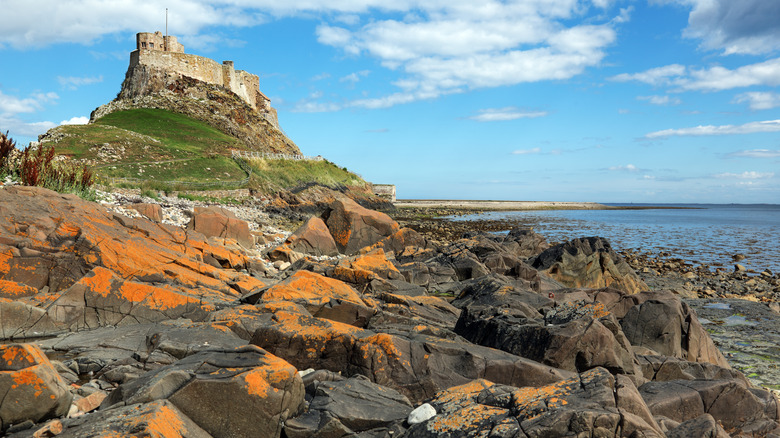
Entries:
[[41, 349], [0, 345], [0, 431], [65, 415], [72, 395]]

